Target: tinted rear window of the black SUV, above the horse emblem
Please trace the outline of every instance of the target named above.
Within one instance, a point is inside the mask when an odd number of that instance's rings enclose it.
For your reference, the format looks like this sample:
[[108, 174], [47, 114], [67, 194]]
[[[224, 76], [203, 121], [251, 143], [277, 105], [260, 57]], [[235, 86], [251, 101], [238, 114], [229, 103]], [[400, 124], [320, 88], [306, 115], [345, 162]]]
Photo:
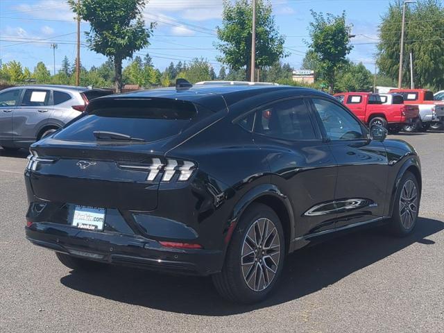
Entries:
[[[199, 108], [201, 110], [201, 108]], [[200, 117], [205, 112], [199, 112]], [[105, 131], [155, 142], [178, 135], [196, 121], [196, 105], [173, 99], [103, 99], [87, 108], [84, 117], [57, 133], [68, 141], [100, 141], [94, 132]]]

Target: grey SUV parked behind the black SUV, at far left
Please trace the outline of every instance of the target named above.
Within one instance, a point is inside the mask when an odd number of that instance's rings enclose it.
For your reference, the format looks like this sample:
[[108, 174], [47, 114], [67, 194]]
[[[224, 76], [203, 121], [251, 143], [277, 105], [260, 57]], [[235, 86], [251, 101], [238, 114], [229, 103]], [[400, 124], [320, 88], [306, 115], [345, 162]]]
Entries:
[[85, 111], [96, 97], [111, 90], [63, 85], [27, 85], [0, 91], [0, 146], [28, 148]]

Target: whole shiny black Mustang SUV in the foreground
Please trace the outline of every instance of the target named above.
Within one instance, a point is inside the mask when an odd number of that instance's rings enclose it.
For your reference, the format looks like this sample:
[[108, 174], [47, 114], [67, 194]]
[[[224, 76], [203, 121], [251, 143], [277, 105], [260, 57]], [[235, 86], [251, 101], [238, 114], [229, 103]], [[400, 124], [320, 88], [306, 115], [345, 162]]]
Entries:
[[225, 298], [258, 302], [298, 248], [364, 225], [413, 231], [420, 160], [385, 138], [302, 87], [105, 96], [31, 146], [26, 237], [74, 270], [212, 275]]

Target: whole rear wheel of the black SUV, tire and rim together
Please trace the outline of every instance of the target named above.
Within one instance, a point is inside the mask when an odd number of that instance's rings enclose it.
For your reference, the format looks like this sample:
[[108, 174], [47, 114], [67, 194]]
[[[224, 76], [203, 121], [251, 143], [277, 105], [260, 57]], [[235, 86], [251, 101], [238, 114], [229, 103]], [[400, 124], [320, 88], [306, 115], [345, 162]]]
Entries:
[[[255, 232], [266, 225], [266, 237], [256, 238]], [[217, 291], [232, 302], [248, 304], [264, 300], [275, 289], [282, 273], [284, 243], [278, 215], [267, 205], [250, 205], [233, 233], [221, 273], [212, 276]]]

